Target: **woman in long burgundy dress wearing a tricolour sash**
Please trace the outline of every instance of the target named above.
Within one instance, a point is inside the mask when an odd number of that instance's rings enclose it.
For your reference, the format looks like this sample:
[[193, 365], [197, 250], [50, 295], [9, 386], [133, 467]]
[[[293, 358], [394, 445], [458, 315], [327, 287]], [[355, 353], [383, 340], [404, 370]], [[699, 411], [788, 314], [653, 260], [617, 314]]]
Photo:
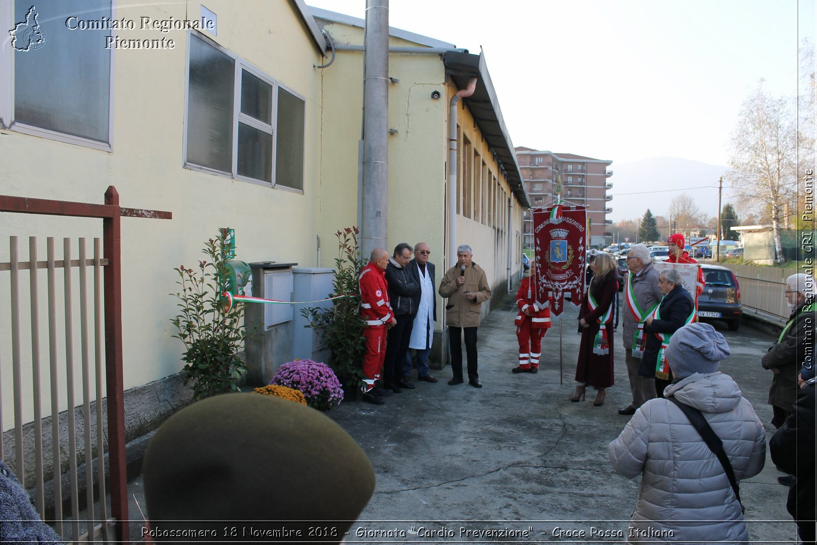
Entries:
[[578, 311], [582, 343], [576, 364], [576, 391], [571, 401], [584, 399], [587, 386], [596, 388], [593, 406], [605, 403], [605, 388], [613, 386], [613, 303], [618, 293], [618, 270], [609, 253], [600, 252], [592, 265], [593, 279]]

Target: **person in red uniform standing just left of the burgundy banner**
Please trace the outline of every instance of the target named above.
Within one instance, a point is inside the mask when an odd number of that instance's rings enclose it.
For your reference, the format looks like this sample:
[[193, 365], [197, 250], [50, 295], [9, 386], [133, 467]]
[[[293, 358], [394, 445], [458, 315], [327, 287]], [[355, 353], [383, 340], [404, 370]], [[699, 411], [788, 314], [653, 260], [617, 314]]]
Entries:
[[538, 373], [539, 357], [542, 355], [542, 337], [551, 327], [551, 305], [549, 301], [536, 302], [536, 279], [527, 273], [516, 292], [516, 339], [519, 341], [519, 366], [511, 373]]

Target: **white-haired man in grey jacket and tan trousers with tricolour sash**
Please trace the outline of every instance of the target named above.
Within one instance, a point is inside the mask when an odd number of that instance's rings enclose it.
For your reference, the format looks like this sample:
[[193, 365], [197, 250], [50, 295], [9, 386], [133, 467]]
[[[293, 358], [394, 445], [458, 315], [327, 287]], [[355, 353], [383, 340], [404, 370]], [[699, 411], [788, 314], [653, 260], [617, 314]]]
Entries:
[[650, 250], [644, 244], [633, 244], [627, 252], [627, 278], [624, 280], [624, 362], [630, 379], [632, 402], [618, 409], [618, 414], [632, 415], [636, 409], [655, 397], [655, 376], [638, 374], [644, 356], [646, 336], [644, 323], [659, 305], [663, 294], [659, 289], [659, 271], [650, 260]]

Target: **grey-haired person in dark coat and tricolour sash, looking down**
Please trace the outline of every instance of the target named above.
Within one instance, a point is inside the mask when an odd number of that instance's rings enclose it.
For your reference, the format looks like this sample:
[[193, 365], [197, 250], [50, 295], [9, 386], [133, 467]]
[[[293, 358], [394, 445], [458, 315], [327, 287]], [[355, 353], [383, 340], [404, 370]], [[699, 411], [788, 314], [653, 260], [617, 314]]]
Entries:
[[675, 269], [661, 271], [659, 289], [663, 293], [661, 302], [644, 320], [646, 342], [638, 373], [642, 377], [654, 377], [655, 393], [663, 397], [664, 388], [672, 382], [672, 371], [667, 364], [667, 346], [672, 333], [694, 319], [695, 302], [681, 284], [681, 274]]

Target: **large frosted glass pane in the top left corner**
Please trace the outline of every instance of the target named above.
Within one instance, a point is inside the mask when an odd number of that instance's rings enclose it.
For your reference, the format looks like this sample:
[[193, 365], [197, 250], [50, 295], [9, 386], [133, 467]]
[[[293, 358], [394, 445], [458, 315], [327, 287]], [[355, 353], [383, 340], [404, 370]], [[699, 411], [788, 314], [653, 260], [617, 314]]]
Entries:
[[[110, 0], [42, 0], [26, 20], [32, 7], [31, 0], [14, 2], [16, 123], [108, 143], [109, 31], [71, 30], [65, 20], [110, 18]], [[20, 51], [37, 35], [41, 47]]]

